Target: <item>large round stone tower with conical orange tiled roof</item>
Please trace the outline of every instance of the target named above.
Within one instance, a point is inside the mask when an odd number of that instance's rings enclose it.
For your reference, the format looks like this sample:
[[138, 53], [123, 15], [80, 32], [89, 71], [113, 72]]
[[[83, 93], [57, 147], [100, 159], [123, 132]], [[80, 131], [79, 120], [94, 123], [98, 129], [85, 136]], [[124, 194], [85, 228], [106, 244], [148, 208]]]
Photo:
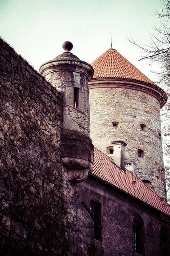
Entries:
[[166, 93], [112, 47], [91, 65], [94, 146], [115, 160], [117, 142], [125, 141], [125, 167], [133, 166], [137, 177], [166, 198], [160, 121]]

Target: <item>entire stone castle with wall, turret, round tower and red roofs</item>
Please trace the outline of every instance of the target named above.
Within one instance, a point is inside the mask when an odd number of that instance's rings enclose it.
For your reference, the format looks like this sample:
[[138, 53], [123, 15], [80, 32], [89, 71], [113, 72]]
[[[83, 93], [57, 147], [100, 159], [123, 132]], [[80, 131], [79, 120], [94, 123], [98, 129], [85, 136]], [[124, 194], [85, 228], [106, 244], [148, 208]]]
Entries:
[[0, 39], [0, 255], [170, 255], [166, 93], [112, 47], [63, 49], [40, 75]]

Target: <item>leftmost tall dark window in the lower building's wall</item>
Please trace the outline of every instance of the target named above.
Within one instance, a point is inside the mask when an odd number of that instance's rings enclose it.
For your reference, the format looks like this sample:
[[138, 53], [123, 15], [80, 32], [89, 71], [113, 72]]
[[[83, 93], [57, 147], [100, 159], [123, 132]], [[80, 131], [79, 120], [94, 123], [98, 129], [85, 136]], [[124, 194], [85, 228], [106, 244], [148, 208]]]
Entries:
[[100, 234], [99, 234], [99, 221], [100, 221], [100, 216], [99, 216], [99, 209], [100, 205], [95, 203], [94, 201], [91, 201], [91, 215], [94, 217], [94, 238], [99, 240], [100, 239]]

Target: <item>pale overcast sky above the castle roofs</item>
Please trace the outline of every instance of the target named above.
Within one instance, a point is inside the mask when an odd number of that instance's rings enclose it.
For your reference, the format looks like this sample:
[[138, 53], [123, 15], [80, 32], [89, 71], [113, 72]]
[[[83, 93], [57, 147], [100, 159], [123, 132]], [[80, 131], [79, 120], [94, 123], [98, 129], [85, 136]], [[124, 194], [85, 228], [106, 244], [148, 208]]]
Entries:
[[140, 50], [127, 41], [150, 42], [148, 32], [160, 19], [159, 0], [0, 0], [0, 36], [32, 64], [40, 65], [63, 52], [71, 41], [72, 52], [91, 63], [111, 46], [150, 79], [148, 61], [138, 61]]

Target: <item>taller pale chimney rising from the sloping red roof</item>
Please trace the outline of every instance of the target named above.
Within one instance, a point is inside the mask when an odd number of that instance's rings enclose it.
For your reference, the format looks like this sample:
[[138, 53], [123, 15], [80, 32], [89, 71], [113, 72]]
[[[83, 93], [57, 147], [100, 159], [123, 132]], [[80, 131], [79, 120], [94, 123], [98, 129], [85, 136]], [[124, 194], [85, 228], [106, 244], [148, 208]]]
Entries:
[[122, 140], [116, 140], [111, 142], [113, 144], [113, 161], [120, 168], [125, 171], [125, 146], [127, 145]]

